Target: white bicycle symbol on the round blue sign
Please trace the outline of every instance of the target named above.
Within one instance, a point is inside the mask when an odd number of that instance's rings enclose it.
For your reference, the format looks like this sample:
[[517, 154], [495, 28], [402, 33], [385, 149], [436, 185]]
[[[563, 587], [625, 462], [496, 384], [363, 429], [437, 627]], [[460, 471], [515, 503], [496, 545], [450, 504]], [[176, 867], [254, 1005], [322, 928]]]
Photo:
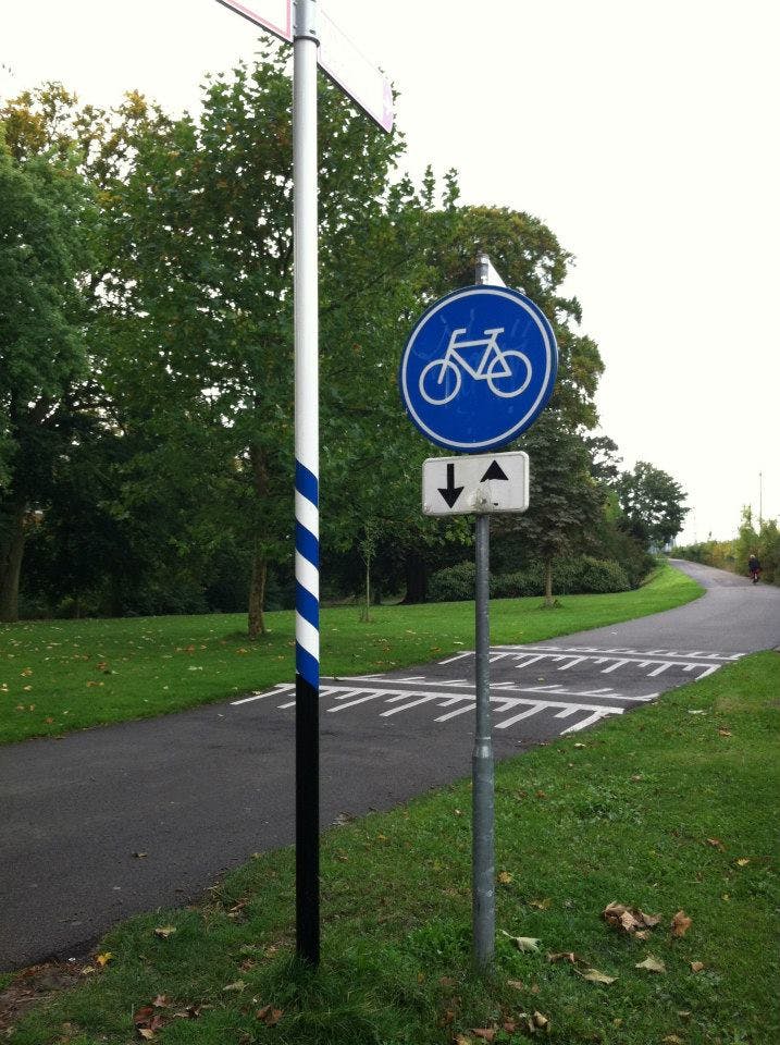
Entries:
[[[523, 352], [517, 348], [504, 351], [498, 346], [498, 335], [504, 333], [504, 327], [492, 327], [484, 331], [484, 337], [473, 341], [458, 341], [468, 328], [454, 330], [449, 336], [447, 351], [441, 359], [432, 359], [422, 369], [420, 374], [420, 394], [432, 406], [444, 406], [451, 402], [460, 392], [462, 371], [465, 370], [474, 381], [486, 381], [494, 395], [504, 399], [520, 395], [531, 383], [531, 360]], [[458, 349], [484, 348], [479, 366], [472, 367]], [[448, 391], [447, 376], [453, 377], [454, 384]]]

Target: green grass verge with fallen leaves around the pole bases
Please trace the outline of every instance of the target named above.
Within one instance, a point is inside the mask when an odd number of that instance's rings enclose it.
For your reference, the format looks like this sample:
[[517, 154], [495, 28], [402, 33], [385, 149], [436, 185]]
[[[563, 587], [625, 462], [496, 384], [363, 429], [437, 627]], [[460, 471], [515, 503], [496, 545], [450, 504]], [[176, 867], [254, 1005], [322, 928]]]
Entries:
[[[534, 1012], [549, 1020], [534, 1036], [561, 1045], [770, 1045], [780, 1040], [770, 915], [779, 708], [780, 655], [759, 653], [502, 763], [499, 933], [485, 979], [470, 971], [463, 780], [324, 834], [315, 973], [293, 960], [294, 859], [282, 850], [230, 874], [199, 906], [112, 931], [99, 948], [111, 955], [106, 968], [92, 962], [83, 985], [29, 1013], [9, 1041], [128, 1045], [134, 1013], [157, 999], [162, 1045], [490, 1040], [474, 1029], [521, 1043]], [[661, 915], [649, 938], [605, 923], [614, 900]], [[692, 922], [676, 938], [679, 911]], [[161, 938], [163, 926], [175, 932]], [[540, 949], [521, 952], [502, 931]], [[547, 958], [567, 951], [582, 961]], [[651, 955], [664, 972], [637, 968]], [[582, 979], [577, 969], [589, 967], [615, 981]]]

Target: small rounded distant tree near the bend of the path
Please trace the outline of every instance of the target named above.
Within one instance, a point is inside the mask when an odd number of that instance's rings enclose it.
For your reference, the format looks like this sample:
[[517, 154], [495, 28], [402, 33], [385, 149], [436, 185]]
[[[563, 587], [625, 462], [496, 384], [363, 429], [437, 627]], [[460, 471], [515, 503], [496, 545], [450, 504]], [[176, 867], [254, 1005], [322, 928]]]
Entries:
[[626, 526], [645, 545], [664, 548], [682, 529], [689, 508], [685, 492], [671, 476], [637, 460], [616, 484]]

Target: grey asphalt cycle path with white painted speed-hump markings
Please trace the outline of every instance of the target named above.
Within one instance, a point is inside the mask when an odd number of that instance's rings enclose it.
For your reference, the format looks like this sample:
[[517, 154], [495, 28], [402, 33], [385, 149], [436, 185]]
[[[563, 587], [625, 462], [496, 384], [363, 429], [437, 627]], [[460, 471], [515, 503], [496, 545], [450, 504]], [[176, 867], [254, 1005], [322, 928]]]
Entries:
[[[780, 644], [780, 589], [690, 563], [699, 600], [491, 651], [497, 758], [597, 726]], [[323, 679], [322, 824], [468, 775], [473, 653]], [[0, 749], [0, 969], [84, 952], [294, 840], [294, 690]]]

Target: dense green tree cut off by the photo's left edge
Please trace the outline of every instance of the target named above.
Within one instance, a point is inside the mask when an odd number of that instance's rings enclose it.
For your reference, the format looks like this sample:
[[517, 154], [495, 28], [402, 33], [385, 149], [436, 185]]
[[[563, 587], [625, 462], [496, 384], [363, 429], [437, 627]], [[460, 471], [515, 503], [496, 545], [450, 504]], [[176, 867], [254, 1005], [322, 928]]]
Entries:
[[18, 615], [32, 513], [75, 438], [95, 209], [70, 156], [15, 159], [0, 123], [0, 619]]

